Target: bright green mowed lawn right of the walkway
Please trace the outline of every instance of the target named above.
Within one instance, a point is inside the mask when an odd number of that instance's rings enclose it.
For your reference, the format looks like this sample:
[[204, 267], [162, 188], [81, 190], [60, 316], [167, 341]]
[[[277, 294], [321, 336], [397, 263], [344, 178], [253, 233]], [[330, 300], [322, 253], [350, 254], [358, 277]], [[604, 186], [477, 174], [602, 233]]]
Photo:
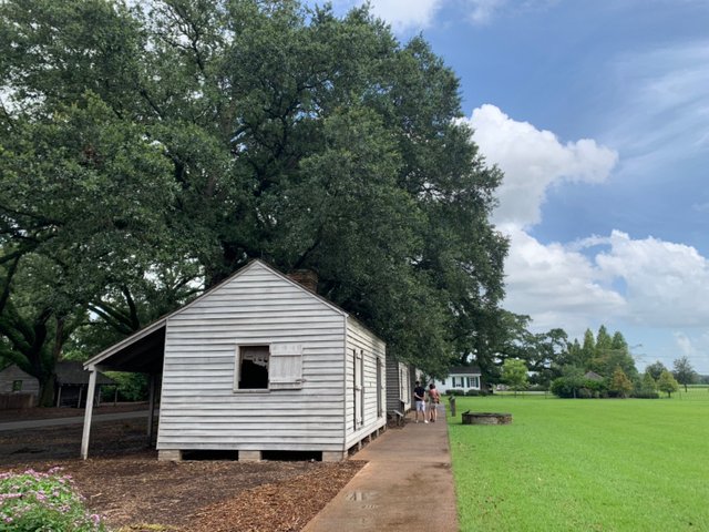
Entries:
[[[513, 422], [464, 426], [466, 410]], [[463, 532], [709, 531], [707, 388], [655, 400], [458, 397], [456, 413]]]

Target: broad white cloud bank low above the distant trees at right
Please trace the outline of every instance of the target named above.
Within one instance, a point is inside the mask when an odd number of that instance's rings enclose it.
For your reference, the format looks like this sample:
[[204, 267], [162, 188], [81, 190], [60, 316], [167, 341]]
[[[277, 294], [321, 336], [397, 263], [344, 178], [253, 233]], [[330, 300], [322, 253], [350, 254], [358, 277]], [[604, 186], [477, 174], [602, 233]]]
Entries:
[[[578, 336], [600, 323], [675, 331], [708, 327], [709, 260], [691, 246], [633, 239], [619, 231], [542, 244], [514, 225], [501, 229], [512, 244], [504, 306], [532, 316], [535, 329], [563, 327]], [[689, 355], [688, 337], [675, 338]]]

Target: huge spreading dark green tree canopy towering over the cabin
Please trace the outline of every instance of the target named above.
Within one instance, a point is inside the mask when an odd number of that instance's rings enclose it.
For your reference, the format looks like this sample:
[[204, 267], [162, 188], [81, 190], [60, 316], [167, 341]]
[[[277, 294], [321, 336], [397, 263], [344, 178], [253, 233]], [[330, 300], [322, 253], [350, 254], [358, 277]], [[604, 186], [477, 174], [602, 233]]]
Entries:
[[422, 38], [290, 0], [7, 0], [0, 35], [1, 346], [42, 382], [255, 257], [430, 375], [495, 366], [502, 174]]

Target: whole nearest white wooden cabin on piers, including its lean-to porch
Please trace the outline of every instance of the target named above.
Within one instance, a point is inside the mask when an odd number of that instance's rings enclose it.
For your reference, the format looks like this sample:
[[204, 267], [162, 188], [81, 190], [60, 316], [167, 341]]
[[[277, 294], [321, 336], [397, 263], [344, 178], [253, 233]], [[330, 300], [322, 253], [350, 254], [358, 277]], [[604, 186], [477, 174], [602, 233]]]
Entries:
[[[386, 429], [384, 342], [261, 260], [84, 367], [92, 376], [162, 371], [164, 460], [192, 451], [234, 451], [239, 460], [305, 451], [341, 460]], [[88, 409], [84, 458], [90, 423]]]

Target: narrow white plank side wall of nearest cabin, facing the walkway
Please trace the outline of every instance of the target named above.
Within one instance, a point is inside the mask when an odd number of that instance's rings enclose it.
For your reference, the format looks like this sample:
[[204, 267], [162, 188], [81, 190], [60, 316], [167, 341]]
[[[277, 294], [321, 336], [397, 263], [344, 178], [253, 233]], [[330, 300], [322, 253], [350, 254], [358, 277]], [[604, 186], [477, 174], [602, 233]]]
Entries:
[[[353, 446], [363, 437], [387, 424], [386, 349], [384, 342], [357, 320], [351, 318], [347, 320], [347, 356], [345, 364], [347, 369], [345, 392], [347, 403], [345, 422], [347, 430], [346, 448]], [[357, 378], [354, 372], [356, 368], [359, 369], [354, 362], [358, 354], [361, 355], [362, 360], [362, 393], [359, 393], [360, 390], [356, 389], [356, 383], [360, 383], [360, 378]], [[379, 379], [377, 377], [378, 358], [380, 360]], [[378, 401], [378, 393], [381, 393], [379, 396], [381, 405]], [[361, 410], [357, 408], [358, 397], [362, 401]]]

